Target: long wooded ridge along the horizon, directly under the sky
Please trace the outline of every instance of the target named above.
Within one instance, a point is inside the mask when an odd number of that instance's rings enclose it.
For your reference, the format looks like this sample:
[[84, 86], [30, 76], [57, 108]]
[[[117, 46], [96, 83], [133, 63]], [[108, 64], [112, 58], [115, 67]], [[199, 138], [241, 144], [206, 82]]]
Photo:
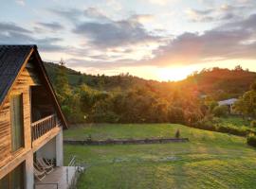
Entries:
[[[45, 65], [50, 79], [54, 81], [60, 65], [51, 62], [45, 62]], [[256, 79], [256, 73], [243, 70], [242, 68], [235, 70], [205, 69], [177, 82], [146, 80], [129, 74], [111, 77], [104, 75], [93, 76], [82, 74], [70, 68], [66, 68], [65, 72], [72, 87], [79, 86], [82, 83], [102, 91], [147, 87], [151, 90], [159, 91], [159, 93], [168, 93], [168, 91], [172, 91], [174, 88], [179, 88], [184, 91], [190, 89], [195, 94], [208, 95], [215, 100], [238, 97], [244, 94], [249, 89], [250, 84]]]

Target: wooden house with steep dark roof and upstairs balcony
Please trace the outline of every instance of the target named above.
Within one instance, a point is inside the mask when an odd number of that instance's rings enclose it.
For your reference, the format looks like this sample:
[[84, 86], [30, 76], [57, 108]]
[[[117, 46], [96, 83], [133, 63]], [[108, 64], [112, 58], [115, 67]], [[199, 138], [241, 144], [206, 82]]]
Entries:
[[0, 188], [43, 189], [49, 181], [68, 188], [60, 185], [63, 129], [36, 45], [0, 45]]

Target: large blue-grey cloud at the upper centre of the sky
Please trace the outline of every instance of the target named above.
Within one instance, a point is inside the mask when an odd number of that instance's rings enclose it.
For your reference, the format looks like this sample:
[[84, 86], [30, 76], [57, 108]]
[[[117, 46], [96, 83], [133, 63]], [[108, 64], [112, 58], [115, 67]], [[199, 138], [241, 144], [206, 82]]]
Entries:
[[86, 15], [100, 20], [84, 21], [76, 25], [73, 32], [87, 39], [93, 46], [107, 48], [159, 40], [158, 36], [148, 32], [139, 23], [139, 20], [145, 20], [146, 17], [149, 19], [150, 15], [134, 15], [119, 21], [111, 20], [96, 9], [87, 9]]

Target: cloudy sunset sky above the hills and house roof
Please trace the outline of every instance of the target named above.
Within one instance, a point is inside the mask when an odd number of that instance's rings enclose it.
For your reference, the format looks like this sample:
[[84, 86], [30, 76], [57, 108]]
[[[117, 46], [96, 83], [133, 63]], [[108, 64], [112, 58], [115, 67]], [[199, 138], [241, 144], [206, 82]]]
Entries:
[[255, 0], [0, 0], [0, 43], [86, 74], [179, 80], [256, 71]]

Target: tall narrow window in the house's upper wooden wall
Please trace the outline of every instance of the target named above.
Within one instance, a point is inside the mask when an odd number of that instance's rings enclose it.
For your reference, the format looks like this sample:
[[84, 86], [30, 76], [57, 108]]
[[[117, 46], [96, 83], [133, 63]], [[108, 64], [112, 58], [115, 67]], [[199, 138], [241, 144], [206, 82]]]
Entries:
[[16, 151], [24, 146], [23, 95], [10, 97], [11, 149]]

